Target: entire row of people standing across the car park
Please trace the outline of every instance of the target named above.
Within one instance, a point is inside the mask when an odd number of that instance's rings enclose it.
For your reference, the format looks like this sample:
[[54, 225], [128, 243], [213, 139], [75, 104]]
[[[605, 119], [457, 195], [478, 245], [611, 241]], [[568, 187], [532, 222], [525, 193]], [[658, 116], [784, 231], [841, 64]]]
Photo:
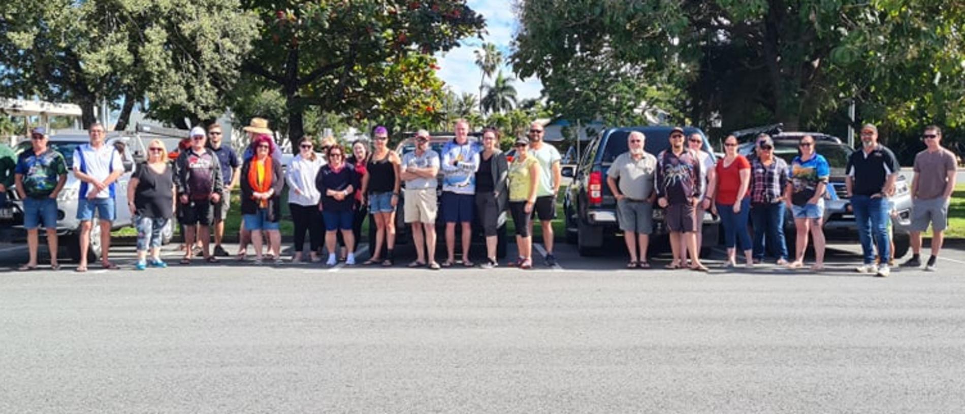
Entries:
[[[255, 249], [255, 262], [263, 261], [265, 239], [271, 260], [281, 262], [281, 199], [288, 184], [289, 210], [294, 225], [292, 262], [304, 262], [306, 235], [309, 261], [319, 259], [324, 243], [328, 265], [339, 261], [355, 264], [355, 252], [365, 217], [372, 215], [375, 238], [372, 255], [365, 264], [394, 264], [396, 244], [395, 211], [404, 188], [404, 222], [411, 226], [416, 260], [409, 267], [430, 269], [455, 265], [455, 233], [461, 231], [462, 264], [469, 260], [472, 222], [482, 224], [486, 244], [484, 268], [499, 263], [497, 232], [499, 217], [509, 211], [515, 227], [518, 259], [512, 265], [533, 266], [533, 218], [542, 227], [544, 262], [555, 264], [551, 221], [555, 218], [556, 194], [561, 183], [560, 153], [543, 142], [543, 127], [534, 123], [527, 136], [513, 142], [511, 161], [499, 149], [500, 132], [483, 129], [481, 142], [468, 139], [469, 124], [455, 123], [455, 138], [441, 154], [430, 148], [430, 135], [418, 131], [412, 140], [415, 148], [399, 154], [388, 148], [388, 130], [373, 129], [373, 146], [358, 141], [352, 154], [334, 139], [321, 142], [324, 156], [315, 151], [305, 137], [298, 143], [298, 154], [283, 173], [281, 153], [271, 138], [267, 122], [253, 119], [244, 130], [251, 145], [241, 157], [222, 145], [221, 126], [190, 131], [190, 144], [182, 149], [173, 164], [160, 140], [148, 145], [147, 159], [134, 170], [127, 187], [128, 208], [137, 228], [138, 261], [136, 269], [165, 267], [160, 258], [161, 231], [177, 216], [185, 237], [182, 264], [193, 259], [192, 246], [202, 245], [206, 262], [228, 256], [221, 245], [224, 221], [230, 207], [231, 191], [241, 188], [243, 214], [239, 259], [244, 260], [247, 244]], [[77, 271], [87, 270], [87, 250], [92, 220], [98, 216], [101, 265], [114, 269], [110, 262], [110, 230], [115, 219], [115, 186], [124, 173], [117, 150], [104, 143], [102, 125], [89, 129], [90, 143], [73, 153], [73, 174], [81, 181], [77, 218], [81, 221], [81, 261]], [[726, 266], [736, 265], [737, 249], [743, 252], [748, 267], [763, 261], [767, 252], [777, 264], [790, 268], [804, 266], [809, 237], [813, 240], [814, 271], [824, 265], [825, 242], [822, 231], [825, 200], [830, 198], [830, 168], [815, 152], [810, 135], [798, 142], [799, 154], [790, 165], [774, 155], [774, 141], [760, 134], [754, 143], [755, 155], [748, 159], [737, 152], [733, 135], [724, 140], [724, 156], [716, 163], [703, 152], [703, 135], [686, 136], [682, 128], [672, 130], [670, 148], [656, 156], [644, 151], [646, 136], [639, 131], [627, 136], [628, 151], [620, 154], [607, 173], [607, 184], [617, 200], [620, 230], [629, 252], [627, 267], [646, 268], [648, 237], [653, 232], [653, 206], [664, 211], [670, 232], [673, 260], [667, 268], [689, 267], [707, 271], [700, 259], [704, 211], [718, 215], [727, 248]], [[891, 235], [889, 198], [894, 195], [899, 166], [895, 154], [877, 142], [872, 124], [861, 130], [862, 148], [852, 152], [846, 166], [846, 191], [857, 222], [864, 252], [858, 271], [887, 276], [890, 273]], [[932, 226], [931, 256], [925, 269], [934, 270], [948, 226], [948, 207], [955, 182], [954, 155], [941, 147], [941, 129], [927, 126], [922, 135], [926, 150], [915, 158], [911, 244], [913, 256], [902, 265], [920, 266], [922, 232]], [[14, 168], [14, 182], [23, 200], [24, 227], [28, 232], [29, 262], [21, 270], [37, 267], [39, 228], [47, 232], [51, 266], [57, 262], [57, 198], [67, 180], [64, 157], [47, 147], [43, 128], [31, 133], [32, 150], [20, 154]], [[436, 200], [437, 175], [442, 174], [442, 198]], [[404, 183], [404, 185], [403, 185]], [[6, 186], [4, 187], [6, 190]], [[441, 211], [445, 223], [446, 260], [435, 260], [435, 222]], [[784, 221], [789, 211], [796, 227], [796, 251], [787, 251]], [[748, 230], [751, 224], [753, 233]], [[209, 252], [207, 241], [214, 232], [215, 246]], [[339, 245], [341, 244], [341, 249]], [[150, 258], [149, 258], [150, 254]], [[689, 254], [689, 255], [688, 255]], [[688, 263], [689, 256], [689, 263]]]

